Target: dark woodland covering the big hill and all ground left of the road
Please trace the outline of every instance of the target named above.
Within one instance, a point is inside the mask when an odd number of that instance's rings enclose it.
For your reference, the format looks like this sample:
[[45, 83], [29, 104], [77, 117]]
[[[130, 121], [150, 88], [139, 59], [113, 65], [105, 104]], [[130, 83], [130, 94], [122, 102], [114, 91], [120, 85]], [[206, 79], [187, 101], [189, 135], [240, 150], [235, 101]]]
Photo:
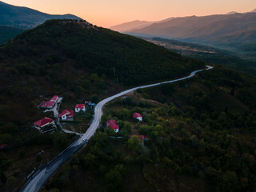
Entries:
[[[85, 21], [52, 20], [19, 34], [0, 46], [0, 144], [7, 145], [0, 150], [1, 183], [9, 190], [21, 186], [34, 166], [75, 139], [31, 128], [38, 119], [52, 118], [38, 110], [42, 100], [58, 94], [72, 109], [203, 67], [204, 62]], [[36, 156], [42, 149], [47, 153]]]

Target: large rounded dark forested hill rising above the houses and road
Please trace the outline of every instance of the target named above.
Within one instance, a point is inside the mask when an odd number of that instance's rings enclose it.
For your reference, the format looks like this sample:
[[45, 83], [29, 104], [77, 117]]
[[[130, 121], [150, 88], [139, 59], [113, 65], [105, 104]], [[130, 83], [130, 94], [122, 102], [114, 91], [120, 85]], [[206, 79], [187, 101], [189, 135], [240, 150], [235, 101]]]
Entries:
[[15, 68], [23, 66], [25, 74], [71, 59], [69, 67], [105, 74], [124, 85], [175, 78], [205, 66], [141, 39], [75, 20], [48, 21], [2, 46], [1, 52], [2, 60], [11, 60]]

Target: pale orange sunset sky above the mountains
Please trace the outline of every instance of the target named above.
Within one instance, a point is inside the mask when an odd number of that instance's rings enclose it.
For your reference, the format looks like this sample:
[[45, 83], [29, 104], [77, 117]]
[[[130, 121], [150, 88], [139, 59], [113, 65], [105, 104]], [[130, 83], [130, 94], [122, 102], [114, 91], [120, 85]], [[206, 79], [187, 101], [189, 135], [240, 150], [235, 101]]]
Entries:
[[[0, 0], [1, 1], [1, 0]], [[75, 14], [97, 26], [110, 27], [134, 20], [160, 21], [171, 17], [244, 13], [256, 0], [2, 0], [47, 14]]]

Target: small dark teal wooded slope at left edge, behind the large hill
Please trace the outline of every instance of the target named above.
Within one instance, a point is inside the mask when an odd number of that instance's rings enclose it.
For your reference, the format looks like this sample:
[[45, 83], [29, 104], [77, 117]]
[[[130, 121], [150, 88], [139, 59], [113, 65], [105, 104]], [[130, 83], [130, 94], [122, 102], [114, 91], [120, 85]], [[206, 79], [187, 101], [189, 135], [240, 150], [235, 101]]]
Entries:
[[24, 30], [14, 26], [0, 26], [0, 45], [10, 38], [14, 38], [17, 34], [21, 34]]

